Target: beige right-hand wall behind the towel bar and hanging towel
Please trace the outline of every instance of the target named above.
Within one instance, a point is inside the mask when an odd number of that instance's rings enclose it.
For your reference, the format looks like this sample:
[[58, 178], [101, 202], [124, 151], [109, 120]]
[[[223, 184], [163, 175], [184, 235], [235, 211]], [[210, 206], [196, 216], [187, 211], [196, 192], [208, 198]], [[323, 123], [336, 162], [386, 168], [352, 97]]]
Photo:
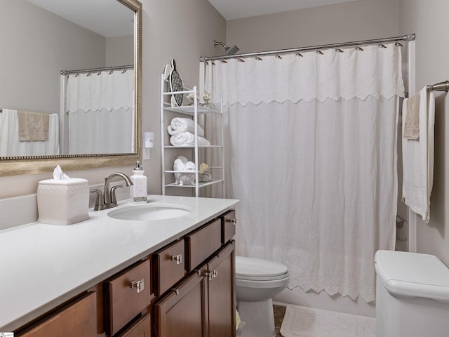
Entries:
[[[400, 31], [416, 33], [416, 89], [449, 79], [447, 0], [401, 0]], [[449, 265], [449, 95], [435, 93], [435, 167], [430, 222], [417, 221], [417, 252]]]

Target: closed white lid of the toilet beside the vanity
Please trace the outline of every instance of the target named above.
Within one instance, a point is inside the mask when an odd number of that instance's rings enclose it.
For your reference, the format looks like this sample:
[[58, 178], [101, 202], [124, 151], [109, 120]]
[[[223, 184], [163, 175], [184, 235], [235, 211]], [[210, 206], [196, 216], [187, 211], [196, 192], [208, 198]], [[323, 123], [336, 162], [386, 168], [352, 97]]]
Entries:
[[282, 279], [288, 277], [286, 265], [262, 258], [236, 256], [236, 277], [240, 279]]

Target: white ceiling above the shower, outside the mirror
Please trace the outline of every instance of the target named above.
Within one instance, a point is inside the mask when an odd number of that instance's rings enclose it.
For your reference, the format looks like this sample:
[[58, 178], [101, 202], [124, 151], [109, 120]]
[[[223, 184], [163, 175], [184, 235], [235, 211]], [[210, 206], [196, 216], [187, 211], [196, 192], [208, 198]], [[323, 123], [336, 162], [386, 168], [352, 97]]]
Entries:
[[209, 0], [226, 19], [274, 14], [297, 9], [342, 4], [356, 0]]

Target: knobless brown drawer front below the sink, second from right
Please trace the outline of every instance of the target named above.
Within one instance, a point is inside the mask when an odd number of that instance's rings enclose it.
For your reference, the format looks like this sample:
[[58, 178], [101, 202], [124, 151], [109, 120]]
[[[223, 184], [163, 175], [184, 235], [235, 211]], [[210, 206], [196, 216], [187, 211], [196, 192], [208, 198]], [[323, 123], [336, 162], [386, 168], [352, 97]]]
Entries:
[[199, 230], [185, 237], [187, 242], [187, 272], [194, 270], [196, 266], [206, 260], [214, 251], [222, 245], [221, 218], [201, 227]]

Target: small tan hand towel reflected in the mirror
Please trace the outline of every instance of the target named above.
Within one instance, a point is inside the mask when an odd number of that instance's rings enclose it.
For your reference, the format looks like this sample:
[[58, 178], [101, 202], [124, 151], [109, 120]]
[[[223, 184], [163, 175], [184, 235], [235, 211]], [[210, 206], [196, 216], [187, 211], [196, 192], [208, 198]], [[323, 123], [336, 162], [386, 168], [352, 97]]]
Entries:
[[19, 140], [21, 142], [48, 140], [50, 115], [18, 111]]

